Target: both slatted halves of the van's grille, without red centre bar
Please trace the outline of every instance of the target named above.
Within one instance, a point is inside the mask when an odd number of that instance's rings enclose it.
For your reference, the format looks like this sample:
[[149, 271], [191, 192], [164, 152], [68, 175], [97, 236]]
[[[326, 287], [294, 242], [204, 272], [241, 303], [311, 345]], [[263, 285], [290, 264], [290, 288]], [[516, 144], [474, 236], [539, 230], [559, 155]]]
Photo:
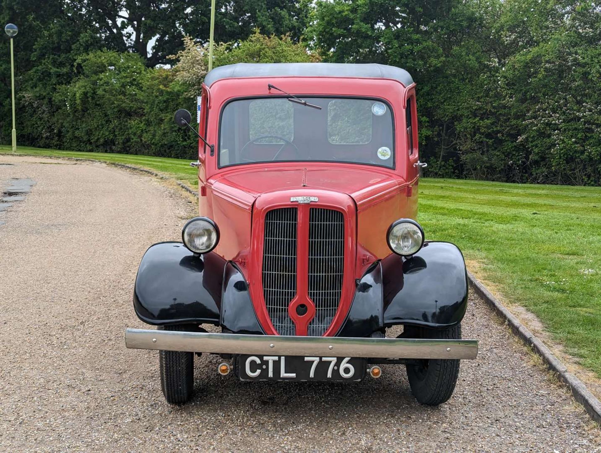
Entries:
[[[288, 305], [296, 295], [297, 230], [308, 228], [308, 297], [316, 315], [309, 336], [322, 336], [338, 309], [344, 271], [344, 215], [333, 209], [311, 208], [309, 224], [297, 224], [297, 208], [273, 209], [265, 217], [263, 296], [273, 327], [280, 335], [294, 335]], [[305, 236], [306, 237], [306, 236]]]

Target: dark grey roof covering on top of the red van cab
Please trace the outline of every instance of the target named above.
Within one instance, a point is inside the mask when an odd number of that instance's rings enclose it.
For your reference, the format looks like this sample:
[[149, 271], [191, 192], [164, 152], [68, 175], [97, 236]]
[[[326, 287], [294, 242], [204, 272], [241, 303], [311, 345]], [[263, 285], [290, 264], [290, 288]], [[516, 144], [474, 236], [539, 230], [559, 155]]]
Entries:
[[384, 78], [398, 80], [406, 87], [413, 83], [406, 70], [377, 63], [236, 63], [216, 67], [204, 83], [210, 87], [221, 79], [282, 76]]

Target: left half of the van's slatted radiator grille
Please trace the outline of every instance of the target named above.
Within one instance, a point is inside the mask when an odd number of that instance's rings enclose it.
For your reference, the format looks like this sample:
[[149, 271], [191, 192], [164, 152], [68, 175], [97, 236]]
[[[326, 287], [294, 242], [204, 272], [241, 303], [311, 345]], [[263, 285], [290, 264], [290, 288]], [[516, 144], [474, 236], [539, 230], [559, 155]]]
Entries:
[[288, 304], [296, 295], [296, 218], [296, 208], [273, 209], [265, 216], [263, 297], [280, 335], [294, 335]]

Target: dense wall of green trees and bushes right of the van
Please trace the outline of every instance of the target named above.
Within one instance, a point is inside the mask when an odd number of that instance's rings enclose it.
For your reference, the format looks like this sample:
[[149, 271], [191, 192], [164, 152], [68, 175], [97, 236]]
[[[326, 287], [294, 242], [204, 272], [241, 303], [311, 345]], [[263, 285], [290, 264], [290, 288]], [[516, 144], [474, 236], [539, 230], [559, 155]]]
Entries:
[[318, 0], [326, 61], [404, 67], [428, 176], [601, 183], [601, 12], [565, 0]]

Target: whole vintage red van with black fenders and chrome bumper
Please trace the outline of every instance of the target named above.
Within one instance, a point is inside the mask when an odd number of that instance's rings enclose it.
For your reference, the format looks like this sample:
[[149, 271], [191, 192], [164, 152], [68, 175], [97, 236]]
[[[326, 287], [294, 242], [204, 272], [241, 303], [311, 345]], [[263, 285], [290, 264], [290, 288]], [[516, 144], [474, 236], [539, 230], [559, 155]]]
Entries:
[[[175, 120], [192, 128], [188, 111]], [[402, 364], [418, 401], [447, 401], [478, 342], [461, 337], [461, 251], [415, 220], [426, 164], [409, 73], [218, 67], [194, 132], [200, 217], [144, 254], [133, 305], [157, 330], [126, 331], [128, 348], [160, 351], [167, 401], [191, 398], [194, 353], [242, 380], [359, 381]]]

